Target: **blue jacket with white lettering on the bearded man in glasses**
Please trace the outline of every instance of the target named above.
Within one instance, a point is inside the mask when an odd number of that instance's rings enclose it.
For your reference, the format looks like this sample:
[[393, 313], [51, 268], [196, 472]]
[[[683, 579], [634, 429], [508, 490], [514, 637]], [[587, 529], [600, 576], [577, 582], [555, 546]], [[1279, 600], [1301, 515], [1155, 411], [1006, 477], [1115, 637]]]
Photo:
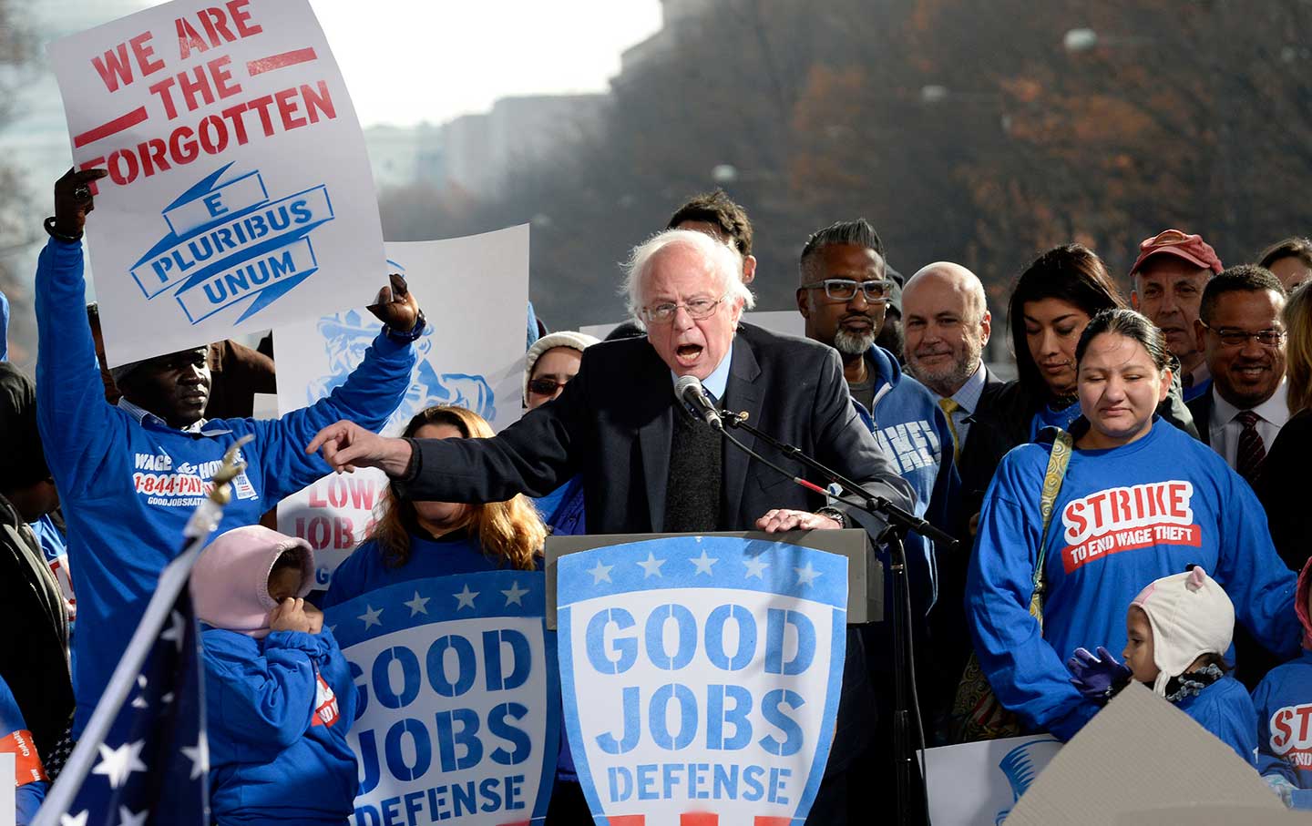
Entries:
[[[851, 400], [857, 414], [874, 434], [879, 447], [897, 468], [897, 475], [916, 492], [916, 515], [947, 530], [949, 507], [956, 500], [960, 479], [953, 464], [953, 431], [947, 417], [929, 389], [903, 372], [893, 354], [871, 345], [866, 354], [875, 368], [874, 410]], [[924, 616], [938, 599], [938, 565], [934, 543], [918, 534], [907, 536], [907, 562], [911, 565], [911, 594], [917, 614]], [[888, 560], [880, 551], [884, 565]], [[892, 578], [884, 577], [892, 598]]]

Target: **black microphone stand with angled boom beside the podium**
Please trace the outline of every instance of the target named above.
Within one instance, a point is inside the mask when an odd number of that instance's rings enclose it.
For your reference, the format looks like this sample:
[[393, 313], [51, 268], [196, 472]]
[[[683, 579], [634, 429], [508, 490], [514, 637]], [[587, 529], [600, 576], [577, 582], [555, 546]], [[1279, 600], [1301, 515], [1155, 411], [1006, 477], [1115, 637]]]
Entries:
[[[779, 473], [791, 477], [795, 482], [810, 490], [829, 496], [845, 505], [857, 507], [867, 514], [884, 521], [884, 527], [875, 536], [876, 543], [888, 545], [891, 560], [893, 591], [893, 759], [896, 764], [897, 784], [897, 819], [899, 825], [907, 826], [913, 822], [912, 806], [917, 809], [920, 817], [914, 822], [929, 823], [929, 793], [925, 788], [924, 763], [916, 766], [916, 751], [924, 755], [925, 733], [920, 721], [920, 703], [916, 698], [916, 657], [912, 644], [913, 612], [911, 604], [911, 589], [907, 582], [907, 548], [903, 539], [908, 532], [918, 534], [941, 543], [946, 551], [956, 545], [956, 540], [916, 514], [904, 510], [882, 496], [875, 496], [862, 488], [855, 481], [842, 473], [824, 465], [819, 460], [802, 452], [800, 448], [781, 442], [768, 433], [747, 423], [747, 413], [733, 413], [724, 410], [722, 414], [726, 429], [720, 433], [724, 438], [745, 451], [749, 456], [774, 468]], [[785, 456], [799, 462], [821, 477], [837, 484], [844, 496], [833, 496], [824, 488], [815, 485], [802, 477], [792, 476], [773, 462], [760, 456], [752, 448], [739, 442], [729, 433], [729, 429], [741, 429], [775, 448]], [[918, 739], [912, 741], [912, 717], [914, 715]], [[918, 770], [917, 770], [918, 768]], [[912, 804], [914, 801], [914, 804]]]

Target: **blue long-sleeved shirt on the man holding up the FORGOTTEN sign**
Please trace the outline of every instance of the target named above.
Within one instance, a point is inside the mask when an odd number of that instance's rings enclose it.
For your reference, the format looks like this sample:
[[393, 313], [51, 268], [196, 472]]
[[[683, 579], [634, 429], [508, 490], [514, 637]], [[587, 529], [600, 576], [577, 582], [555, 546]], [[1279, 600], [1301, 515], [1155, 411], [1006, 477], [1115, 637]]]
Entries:
[[51, 239], [37, 265], [37, 422], [46, 463], [68, 503], [68, 561], [77, 572], [73, 736], [81, 733], [133, 636], [182, 527], [239, 437], [247, 463], [216, 534], [255, 524], [286, 496], [329, 472], [306, 444], [349, 418], [378, 430], [409, 387], [408, 344], [374, 340], [350, 379], [318, 404], [278, 420], [206, 422], [198, 433], [140, 421], [105, 401], [91, 328], [80, 243]]

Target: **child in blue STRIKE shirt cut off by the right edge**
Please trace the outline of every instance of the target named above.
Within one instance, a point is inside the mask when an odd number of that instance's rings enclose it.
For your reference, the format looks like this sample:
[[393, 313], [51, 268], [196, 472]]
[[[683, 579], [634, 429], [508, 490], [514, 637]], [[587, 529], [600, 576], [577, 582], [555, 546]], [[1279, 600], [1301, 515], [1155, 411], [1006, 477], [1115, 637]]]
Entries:
[[1257, 708], [1257, 771], [1294, 787], [1295, 809], [1312, 809], [1312, 559], [1299, 576], [1295, 608], [1303, 623], [1303, 656], [1267, 671], [1253, 690]]

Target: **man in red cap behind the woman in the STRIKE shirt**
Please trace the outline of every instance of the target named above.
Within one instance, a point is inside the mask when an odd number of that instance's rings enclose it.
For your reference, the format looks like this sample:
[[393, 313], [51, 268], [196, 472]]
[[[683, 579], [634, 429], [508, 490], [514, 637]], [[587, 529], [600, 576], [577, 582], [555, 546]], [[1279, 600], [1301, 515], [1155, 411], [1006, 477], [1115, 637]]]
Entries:
[[1166, 346], [1179, 359], [1185, 401], [1207, 392], [1212, 382], [1194, 323], [1203, 287], [1221, 269], [1216, 250], [1203, 236], [1179, 229], [1164, 229], [1141, 241], [1130, 267], [1130, 303], [1166, 336]]

